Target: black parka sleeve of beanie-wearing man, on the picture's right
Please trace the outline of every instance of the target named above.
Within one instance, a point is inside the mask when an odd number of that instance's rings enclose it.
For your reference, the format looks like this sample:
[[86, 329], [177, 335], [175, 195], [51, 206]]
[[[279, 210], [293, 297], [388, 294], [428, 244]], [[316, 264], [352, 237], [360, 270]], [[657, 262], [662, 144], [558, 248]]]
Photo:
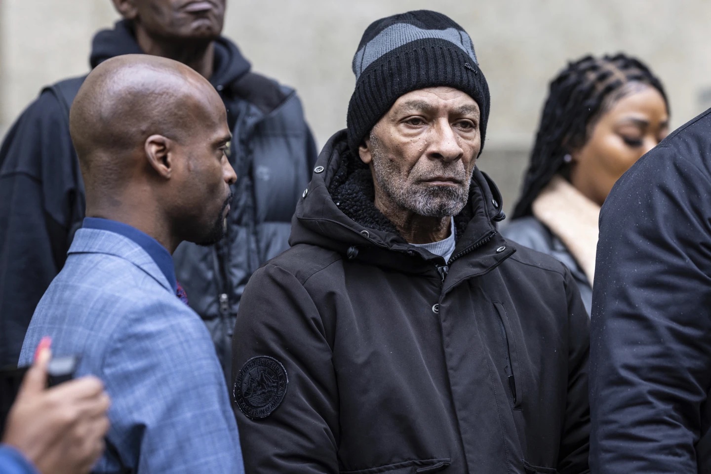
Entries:
[[570, 271], [566, 269], [565, 293], [568, 303], [568, 391], [565, 424], [561, 436], [560, 474], [589, 473], [590, 405], [588, 364], [590, 318]]

